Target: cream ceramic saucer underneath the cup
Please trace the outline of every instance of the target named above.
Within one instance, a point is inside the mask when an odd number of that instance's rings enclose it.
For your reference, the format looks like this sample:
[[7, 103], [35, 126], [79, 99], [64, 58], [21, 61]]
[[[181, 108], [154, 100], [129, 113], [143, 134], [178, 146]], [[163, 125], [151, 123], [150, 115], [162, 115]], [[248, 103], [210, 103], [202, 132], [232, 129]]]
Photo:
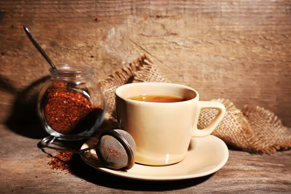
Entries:
[[[81, 149], [92, 146], [96, 138], [89, 139]], [[81, 154], [81, 159], [102, 172], [124, 178], [140, 180], [178, 180], [210, 175], [222, 168], [228, 159], [226, 144], [213, 135], [192, 138], [186, 157], [167, 166], [146, 166], [135, 163], [129, 170], [110, 170], [102, 167], [95, 149]]]

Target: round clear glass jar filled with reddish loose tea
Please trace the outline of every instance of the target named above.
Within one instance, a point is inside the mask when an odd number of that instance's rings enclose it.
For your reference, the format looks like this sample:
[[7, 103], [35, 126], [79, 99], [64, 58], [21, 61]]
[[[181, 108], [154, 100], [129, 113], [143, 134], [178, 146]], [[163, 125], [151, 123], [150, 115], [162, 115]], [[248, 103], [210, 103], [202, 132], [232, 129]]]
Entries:
[[53, 136], [90, 136], [102, 124], [105, 100], [94, 69], [88, 65], [56, 65], [40, 91], [37, 112], [44, 129]]

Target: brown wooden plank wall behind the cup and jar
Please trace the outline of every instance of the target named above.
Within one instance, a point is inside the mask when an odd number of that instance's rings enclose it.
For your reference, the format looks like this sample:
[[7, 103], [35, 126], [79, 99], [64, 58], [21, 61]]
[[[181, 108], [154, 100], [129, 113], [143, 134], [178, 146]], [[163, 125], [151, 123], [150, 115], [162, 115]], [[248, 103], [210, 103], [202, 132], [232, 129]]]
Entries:
[[291, 0], [1, 0], [0, 123], [34, 122], [49, 65], [87, 64], [95, 78], [147, 53], [202, 100], [259, 105], [291, 126]]

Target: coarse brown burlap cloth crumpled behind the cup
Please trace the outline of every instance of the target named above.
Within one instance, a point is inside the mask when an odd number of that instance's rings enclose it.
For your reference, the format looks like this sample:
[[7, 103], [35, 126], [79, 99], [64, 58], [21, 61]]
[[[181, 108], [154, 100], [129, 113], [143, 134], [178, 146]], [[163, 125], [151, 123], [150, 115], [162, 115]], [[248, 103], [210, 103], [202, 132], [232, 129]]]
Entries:
[[[124, 68], [115, 71], [106, 80], [100, 81], [104, 93], [106, 116], [116, 122], [115, 94], [117, 87], [130, 82], [170, 82], [165, 78], [147, 55], [142, 55]], [[272, 112], [259, 106], [244, 106], [237, 109], [228, 99], [212, 99], [225, 105], [226, 115], [219, 126], [212, 132], [228, 146], [244, 151], [272, 154], [291, 148], [291, 129], [282, 125]], [[198, 129], [210, 124], [217, 111], [203, 109], [199, 116]]]

